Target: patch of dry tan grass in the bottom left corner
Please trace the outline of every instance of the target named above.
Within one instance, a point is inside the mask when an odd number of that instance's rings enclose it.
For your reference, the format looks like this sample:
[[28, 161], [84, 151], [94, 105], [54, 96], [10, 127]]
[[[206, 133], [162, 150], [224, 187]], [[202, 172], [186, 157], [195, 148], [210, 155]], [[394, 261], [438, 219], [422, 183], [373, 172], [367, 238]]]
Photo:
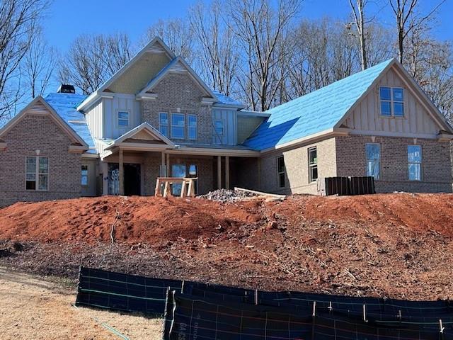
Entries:
[[130, 340], [161, 339], [161, 319], [76, 309], [74, 300], [74, 288], [64, 282], [0, 267], [1, 339], [121, 339], [100, 322]]

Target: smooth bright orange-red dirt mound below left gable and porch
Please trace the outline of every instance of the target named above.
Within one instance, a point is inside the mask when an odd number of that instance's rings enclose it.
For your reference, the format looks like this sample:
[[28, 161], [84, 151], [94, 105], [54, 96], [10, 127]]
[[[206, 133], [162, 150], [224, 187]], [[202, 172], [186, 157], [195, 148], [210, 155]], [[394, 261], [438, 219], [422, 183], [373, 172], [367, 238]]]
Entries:
[[256, 205], [208, 200], [117, 197], [16, 203], [0, 210], [0, 239], [156, 242], [212, 236], [260, 220]]

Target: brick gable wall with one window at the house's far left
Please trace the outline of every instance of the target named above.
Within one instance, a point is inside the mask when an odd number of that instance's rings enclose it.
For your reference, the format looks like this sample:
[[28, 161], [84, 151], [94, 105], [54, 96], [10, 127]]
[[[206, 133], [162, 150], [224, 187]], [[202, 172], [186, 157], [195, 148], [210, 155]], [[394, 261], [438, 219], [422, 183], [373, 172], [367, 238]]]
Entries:
[[[71, 140], [49, 116], [25, 115], [1, 137], [0, 206], [18, 201], [55, 200], [81, 196], [81, 154], [69, 153]], [[49, 190], [25, 190], [25, 157], [49, 157]]]

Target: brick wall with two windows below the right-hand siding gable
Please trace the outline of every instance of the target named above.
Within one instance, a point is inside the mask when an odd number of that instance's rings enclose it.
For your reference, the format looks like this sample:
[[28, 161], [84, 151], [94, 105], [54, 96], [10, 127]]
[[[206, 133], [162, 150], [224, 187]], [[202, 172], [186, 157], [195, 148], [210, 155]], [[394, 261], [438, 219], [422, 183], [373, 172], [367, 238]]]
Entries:
[[[365, 144], [370, 136], [336, 137], [338, 176], [366, 176]], [[449, 142], [418, 138], [422, 147], [422, 181], [408, 181], [408, 145], [413, 138], [375, 137], [381, 145], [381, 180], [378, 192], [452, 192], [452, 162]]]

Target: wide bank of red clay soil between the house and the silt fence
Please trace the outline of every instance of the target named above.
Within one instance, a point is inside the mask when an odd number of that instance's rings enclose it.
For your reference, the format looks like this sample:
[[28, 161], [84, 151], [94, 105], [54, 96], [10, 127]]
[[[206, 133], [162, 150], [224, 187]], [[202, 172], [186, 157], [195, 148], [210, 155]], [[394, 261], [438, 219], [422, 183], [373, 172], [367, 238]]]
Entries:
[[75, 275], [83, 260], [109, 270], [265, 290], [432, 300], [452, 297], [452, 236], [452, 194], [227, 204], [80, 198], [1, 209], [0, 242], [28, 242], [30, 250], [0, 256], [0, 265]]

